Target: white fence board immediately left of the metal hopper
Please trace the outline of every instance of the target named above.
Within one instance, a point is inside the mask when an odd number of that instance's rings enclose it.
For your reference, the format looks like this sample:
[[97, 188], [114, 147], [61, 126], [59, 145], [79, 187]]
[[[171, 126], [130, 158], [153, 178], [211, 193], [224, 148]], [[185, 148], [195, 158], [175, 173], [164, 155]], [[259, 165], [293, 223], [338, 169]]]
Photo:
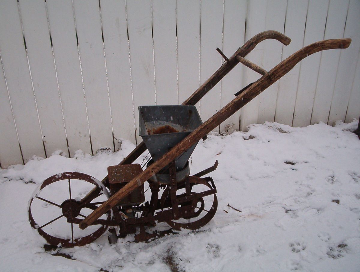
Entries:
[[106, 66], [116, 139], [135, 143], [125, 1], [101, 1]]

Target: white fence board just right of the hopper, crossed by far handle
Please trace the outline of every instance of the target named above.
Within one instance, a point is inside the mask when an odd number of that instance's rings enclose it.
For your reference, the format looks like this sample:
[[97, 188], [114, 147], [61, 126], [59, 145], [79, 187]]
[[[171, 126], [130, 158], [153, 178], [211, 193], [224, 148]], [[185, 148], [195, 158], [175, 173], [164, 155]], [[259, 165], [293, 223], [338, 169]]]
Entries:
[[[200, 82], [205, 82], [222, 63], [222, 20], [224, 3], [222, 0], [201, 1], [201, 41], [200, 41]], [[200, 101], [200, 116], [203, 121], [209, 119], [220, 109], [221, 84], [215, 85]]]

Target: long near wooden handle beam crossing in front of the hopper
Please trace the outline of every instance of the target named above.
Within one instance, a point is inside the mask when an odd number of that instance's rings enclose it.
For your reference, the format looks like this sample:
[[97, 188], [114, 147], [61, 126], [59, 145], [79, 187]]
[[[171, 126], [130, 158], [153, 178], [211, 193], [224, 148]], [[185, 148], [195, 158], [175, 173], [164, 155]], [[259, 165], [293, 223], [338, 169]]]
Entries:
[[350, 43], [351, 39], [334, 39], [319, 41], [300, 49], [296, 53], [286, 58], [284, 61], [280, 62], [273, 69], [271, 69], [269, 73], [258, 79], [246, 91], [235, 97], [229, 104], [227, 104], [224, 108], [215, 113], [210, 119], [204, 122], [188, 136], [186, 136], [172, 149], [170, 149], [169, 152], [167, 152], [160, 159], [151, 164], [151, 166], [149, 166], [143, 172], [137, 175], [121, 190], [119, 190], [107, 201], [105, 201], [101, 206], [99, 206], [95, 211], [91, 212], [90, 215], [88, 215], [84, 220], [82, 220], [82, 222], [79, 224], [79, 227], [81, 229], [85, 229], [88, 225], [93, 223], [101, 215], [103, 215], [105, 212], [115, 206], [118, 203], [119, 199], [127, 196], [141, 184], [145, 183], [145, 181], [147, 181], [150, 177], [159, 172], [163, 167], [167, 166], [171, 161], [183, 154], [186, 150], [190, 148], [190, 146], [192, 146], [195, 142], [199, 141], [204, 135], [219, 126], [221, 122], [229, 118], [232, 114], [234, 114], [236, 111], [238, 111], [248, 102], [250, 102], [254, 97], [264, 91], [267, 87], [269, 87], [286, 73], [288, 73], [303, 58], [323, 50], [347, 48], [349, 47]]

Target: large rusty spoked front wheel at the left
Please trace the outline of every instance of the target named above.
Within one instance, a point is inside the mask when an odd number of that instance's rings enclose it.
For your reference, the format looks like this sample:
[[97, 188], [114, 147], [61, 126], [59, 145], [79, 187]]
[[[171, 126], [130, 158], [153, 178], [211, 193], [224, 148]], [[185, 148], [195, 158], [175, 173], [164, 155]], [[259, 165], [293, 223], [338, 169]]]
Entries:
[[[94, 187], [101, 192], [90, 203], [81, 201]], [[84, 219], [109, 198], [108, 190], [93, 177], [64, 172], [48, 177], [33, 193], [28, 205], [30, 225], [53, 246], [83, 246], [95, 241], [107, 225], [91, 225], [82, 230], [74, 220]], [[108, 212], [100, 219], [111, 219]]]

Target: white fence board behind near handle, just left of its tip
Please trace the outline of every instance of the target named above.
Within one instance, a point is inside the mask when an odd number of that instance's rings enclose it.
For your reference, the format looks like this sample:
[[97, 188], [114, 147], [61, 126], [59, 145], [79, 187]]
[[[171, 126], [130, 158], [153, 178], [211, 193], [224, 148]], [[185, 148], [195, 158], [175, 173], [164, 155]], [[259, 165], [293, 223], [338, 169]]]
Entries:
[[[330, 0], [325, 39], [342, 38], [348, 9], [348, 1]], [[312, 109], [311, 124], [328, 122], [330, 105], [336, 80], [340, 50], [321, 52], [318, 84]]]

